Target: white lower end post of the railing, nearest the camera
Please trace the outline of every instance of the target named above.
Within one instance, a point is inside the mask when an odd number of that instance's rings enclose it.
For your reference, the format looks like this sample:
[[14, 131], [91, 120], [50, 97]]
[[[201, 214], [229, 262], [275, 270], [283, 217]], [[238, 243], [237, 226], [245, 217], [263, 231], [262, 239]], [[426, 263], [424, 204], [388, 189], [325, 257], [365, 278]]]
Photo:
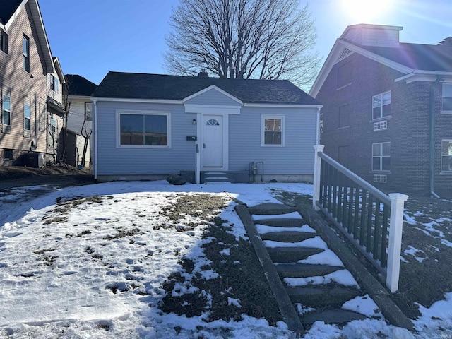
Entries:
[[389, 247], [386, 286], [395, 293], [400, 275], [400, 251], [402, 250], [403, 206], [408, 196], [400, 193], [389, 194], [391, 217], [389, 220]]

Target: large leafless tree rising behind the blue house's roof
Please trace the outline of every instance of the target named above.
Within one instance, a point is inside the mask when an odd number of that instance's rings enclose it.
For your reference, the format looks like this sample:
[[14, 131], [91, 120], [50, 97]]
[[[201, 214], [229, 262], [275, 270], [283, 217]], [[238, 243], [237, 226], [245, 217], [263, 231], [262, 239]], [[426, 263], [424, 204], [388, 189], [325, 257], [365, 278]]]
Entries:
[[316, 29], [299, 0], [180, 0], [167, 36], [172, 73], [201, 69], [220, 78], [290, 79], [316, 76]]

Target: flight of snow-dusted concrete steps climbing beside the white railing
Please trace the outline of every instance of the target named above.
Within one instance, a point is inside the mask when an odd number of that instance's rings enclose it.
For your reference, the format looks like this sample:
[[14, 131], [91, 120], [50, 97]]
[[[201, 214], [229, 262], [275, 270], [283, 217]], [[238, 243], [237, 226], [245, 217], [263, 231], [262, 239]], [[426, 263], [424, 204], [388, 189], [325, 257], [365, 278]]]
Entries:
[[[306, 224], [297, 208], [280, 203], [263, 203], [246, 209], [244, 206], [237, 206], [236, 209], [244, 221], [247, 232], [252, 234], [249, 236], [258, 256], [258, 252], [262, 249], [257, 249], [256, 246], [265, 248], [263, 251], [266, 253], [261, 254], [260, 257], [263, 268], [268, 257], [270, 264], [275, 268], [276, 278], [273, 276], [273, 279], [280, 280], [283, 292], [292, 303], [290, 307], [294, 310], [309, 310], [295, 311], [301, 328], [311, 326], [315, 321], [344, 324], [348, 321], [367, 318], [363, 314], [341, 308], [345, 302], [366, 293], [357, 286], [356, 282], [354, 286], [342, 285], [331, 278], [331, 275], [340, 275], [342, 274], [340, 271], [346, 270], [337, 257], [333, 263], [322, 263], [319, 256], [322, 254], [335, 256], [335, 254], [328, 249], [319, 234]], [[249, 232], [250, 223], [251, 227], [254, 227], [251, 232]], [[256, 236], [253, 232], [256, 232]], [[260, 245], [256, 243], [257, 237], [258, 242], [261, 242]], [[346, 272], [350, 275], [348, 271]], [[271, 272], [266, 272], [266, 276], [272, 279]], [[309, 281], [323, 283], [314, 285]], [[278, 286], [278, 284], [273, 285]], [[294, 314], [294, 312], [282, 310], [283, 315], [284, 313]], [[295, 325], [292, 327], [297, 328]], [[294, 328], [292, 331], [297, 331]]]

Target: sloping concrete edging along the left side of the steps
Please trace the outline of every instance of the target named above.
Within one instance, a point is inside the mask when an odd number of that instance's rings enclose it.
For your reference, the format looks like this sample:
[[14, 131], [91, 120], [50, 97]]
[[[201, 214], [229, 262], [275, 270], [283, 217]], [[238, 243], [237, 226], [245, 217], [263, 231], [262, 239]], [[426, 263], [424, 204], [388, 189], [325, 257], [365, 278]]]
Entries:
[[261, 262], [263, 273], [267, 278], [268, 285], [270, 285], [276, 302], [278, 302], [281, 315], [283, 316], [287, 327], [290, 331], [297, 333], [297, 335], [302, 335], [304, 333], [303, 324], [299, 319], [298, 313], [295, 310], [289, 295], [287, 295], [278, 272], [273, 265], [273, 261], [271, 261], [270, 256], [268, 255], [267, 249], [263, 246], [261, 236], [257, 232], [256, 225], [254, 225], [254, 221], [251, 219], [248, 209], [245, 206], [237, 205], [235, 206], [235, 210], [242, 220], [246, 233], [254, 247], [254, 251], [256, 251], [256, 255]]

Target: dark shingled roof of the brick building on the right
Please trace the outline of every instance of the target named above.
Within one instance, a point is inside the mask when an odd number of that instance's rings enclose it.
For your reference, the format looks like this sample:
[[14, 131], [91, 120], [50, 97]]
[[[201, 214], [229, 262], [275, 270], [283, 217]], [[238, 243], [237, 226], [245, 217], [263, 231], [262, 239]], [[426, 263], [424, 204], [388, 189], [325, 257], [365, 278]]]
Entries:
[[411, 69], [452, 71], [452, 46], [401, 42], [399, 47], [359, 47]]

